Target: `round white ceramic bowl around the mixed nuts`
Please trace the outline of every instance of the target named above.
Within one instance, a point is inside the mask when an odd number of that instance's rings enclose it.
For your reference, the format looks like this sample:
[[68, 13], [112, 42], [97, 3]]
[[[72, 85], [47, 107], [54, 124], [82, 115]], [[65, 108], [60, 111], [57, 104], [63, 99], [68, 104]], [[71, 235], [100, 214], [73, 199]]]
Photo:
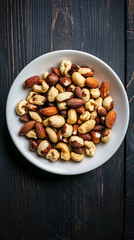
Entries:
[[[106, 81], [110, 87], [110, 95], [114, 100], [114, 110], [117, 113], [116, 122], [112, 128], [112, 137], [107, 144], [96, 145], [96, 155], [93, 158], [85, 156], [81, 163], [73, 161], [50, 162], [41, 158], [35, 152], [29, 151], [29, 140], [20, 137], [18, 132], [22, 126], [19, 117], [15, 113], [15, 106], [21, 99], [26, 99], [30, 89], [24, 89], [24, 81], [45, 71], [50, 72], [51, 67], [58, 67], [63, 59], [69, 59], [80, 66], [89, 66], [95, 70], [94, 77], [101, 83]], [[116, 73], [99, 58], [81, 51], [60, 50], [44, 54], [30, 62], [17, 76], [12, 84], [6, 106], [6, 119], [9, 133], [16, 147], [22, 155], [37, 167], [48, 172], [75, 175], [91, 171], [108, 161], [121, 145], [129, 122], [128, 98], [122, 82]]]

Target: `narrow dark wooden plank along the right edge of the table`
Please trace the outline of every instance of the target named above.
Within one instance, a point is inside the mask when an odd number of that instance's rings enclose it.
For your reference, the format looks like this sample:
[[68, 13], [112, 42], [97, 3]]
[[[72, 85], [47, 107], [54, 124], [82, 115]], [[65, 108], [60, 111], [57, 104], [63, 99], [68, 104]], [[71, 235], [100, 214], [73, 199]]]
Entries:
[[[134, 9], [133, 9], [134, 11]], [[125, 240], [134, 239], [134, 31], [127, 32], [127, 94], [130, 106], [126, 137]]]

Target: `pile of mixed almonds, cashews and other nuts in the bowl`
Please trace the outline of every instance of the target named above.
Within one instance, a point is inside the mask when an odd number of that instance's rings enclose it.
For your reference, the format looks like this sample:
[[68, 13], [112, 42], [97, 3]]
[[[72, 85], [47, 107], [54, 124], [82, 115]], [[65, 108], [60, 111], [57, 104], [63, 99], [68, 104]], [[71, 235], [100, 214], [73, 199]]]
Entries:
[[93, 77], [87, 66], [63, 60], [59, 69], [33, 76], [24, 82], [32, 88], [26, 100], [16, 105], [25, 123], [19, 135], [30, 139], [30, 150], [56, 161], [61, 158], [81, 162], [96, 153], [96, 144], [107, 143], [116, 120], [109, 86]]

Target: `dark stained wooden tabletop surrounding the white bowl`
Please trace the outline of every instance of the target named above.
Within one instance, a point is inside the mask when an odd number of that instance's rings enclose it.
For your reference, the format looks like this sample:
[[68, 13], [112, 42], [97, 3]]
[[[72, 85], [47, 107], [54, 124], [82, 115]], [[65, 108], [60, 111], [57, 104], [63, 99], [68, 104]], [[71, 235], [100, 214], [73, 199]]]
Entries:
[[[118, 74], [130, 102], [127, 136], [103, 166], [58, 176], [12, 142], [6, 99], [18, 73], [57, 49], [82, 50]], [[0, 239], [134, 239], [134, 0], [0, 1]]]

